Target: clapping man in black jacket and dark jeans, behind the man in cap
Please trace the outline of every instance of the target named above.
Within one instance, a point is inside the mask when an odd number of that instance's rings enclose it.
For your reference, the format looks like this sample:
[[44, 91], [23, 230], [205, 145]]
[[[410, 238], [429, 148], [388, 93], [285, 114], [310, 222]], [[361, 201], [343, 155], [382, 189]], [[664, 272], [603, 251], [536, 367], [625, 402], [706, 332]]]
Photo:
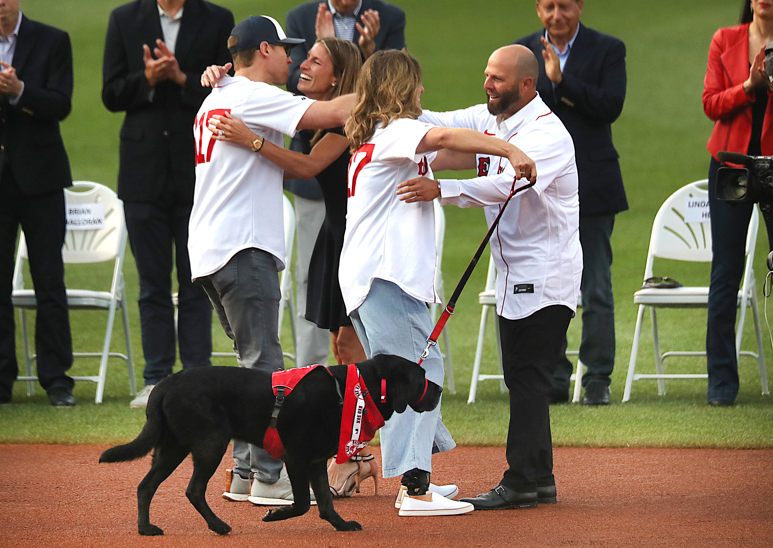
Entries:
[[114, 9], [107, 26], [102, 101], [110, 111], [126, 112], [118, 196], [139, 273], [145, 354], [145, 389], [131, 407], [145, 407], [152, 387], [172, 373], [175, 265], [182, 366], [211, 365], [212, 305], [191, 282], [188, 259], [193, 121], [209, 94], [199, 75], [209, 65], [230, 62], [233, 24], [229, 10], [203, 0], [135, 0]]

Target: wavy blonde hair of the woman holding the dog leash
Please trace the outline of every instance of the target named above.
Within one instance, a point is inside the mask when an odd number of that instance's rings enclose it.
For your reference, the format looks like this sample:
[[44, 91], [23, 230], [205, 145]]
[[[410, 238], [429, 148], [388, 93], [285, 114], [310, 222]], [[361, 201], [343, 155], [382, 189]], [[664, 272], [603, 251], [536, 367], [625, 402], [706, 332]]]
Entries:
[[385, 128], [397, 118], [419, 117], [416, 95], [420, 87], [421, 66], [409, 53], [397, 49], [373, 53], [357, 78], [357, 103], [346, 122], [352, 154], [379, 126]]

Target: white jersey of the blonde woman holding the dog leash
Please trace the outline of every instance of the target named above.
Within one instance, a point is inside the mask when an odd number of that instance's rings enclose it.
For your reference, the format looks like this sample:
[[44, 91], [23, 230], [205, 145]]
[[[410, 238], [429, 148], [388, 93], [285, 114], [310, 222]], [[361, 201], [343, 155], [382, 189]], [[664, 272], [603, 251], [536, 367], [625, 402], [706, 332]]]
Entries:
[[399, 285], [420, 301], [439, 302], [434, 288], [434, 206], [400, 202], [396, 194], [401, 182], [432, 176], [429, 165], [437, 153], [416, 154], [431, 128], [400, 118], [376, 129], [352, 155], [339, 266], [347, 314], [363, 304], [376, 277]]

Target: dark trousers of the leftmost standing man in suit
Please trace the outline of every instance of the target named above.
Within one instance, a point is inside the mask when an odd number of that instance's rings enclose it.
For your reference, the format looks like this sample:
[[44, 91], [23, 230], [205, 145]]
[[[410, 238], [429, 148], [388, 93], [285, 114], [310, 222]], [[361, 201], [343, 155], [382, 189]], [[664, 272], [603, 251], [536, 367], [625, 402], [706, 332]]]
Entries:
[[38, 303], [35, 350], [40, 386], [73, 390], [66, 375], [73, 365], [73, 341], [64, 286], [64, 192], [26, 196], [10, 168], [0, 175], [0, 396], [9, 396], [19, 374], [14, 309], [11, 301], [14, 250], [19, 224], [24, 230], [29, 271]]

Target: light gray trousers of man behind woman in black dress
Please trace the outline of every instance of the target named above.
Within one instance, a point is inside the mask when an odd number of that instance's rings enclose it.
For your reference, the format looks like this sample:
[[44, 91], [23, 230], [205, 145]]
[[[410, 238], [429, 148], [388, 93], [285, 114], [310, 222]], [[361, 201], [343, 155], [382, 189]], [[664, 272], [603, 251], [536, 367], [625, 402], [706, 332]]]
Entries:
[[[298, 367], [310, 363], [328, 362], [330, 332], [318, 328], [306, 319], [306, 288], [308, 264], [312, 260], [314, 244], [325, 221], [325, 201], [295, 196], [295, 359]], [[289, 250], [288, 250], [289, 252]]]

